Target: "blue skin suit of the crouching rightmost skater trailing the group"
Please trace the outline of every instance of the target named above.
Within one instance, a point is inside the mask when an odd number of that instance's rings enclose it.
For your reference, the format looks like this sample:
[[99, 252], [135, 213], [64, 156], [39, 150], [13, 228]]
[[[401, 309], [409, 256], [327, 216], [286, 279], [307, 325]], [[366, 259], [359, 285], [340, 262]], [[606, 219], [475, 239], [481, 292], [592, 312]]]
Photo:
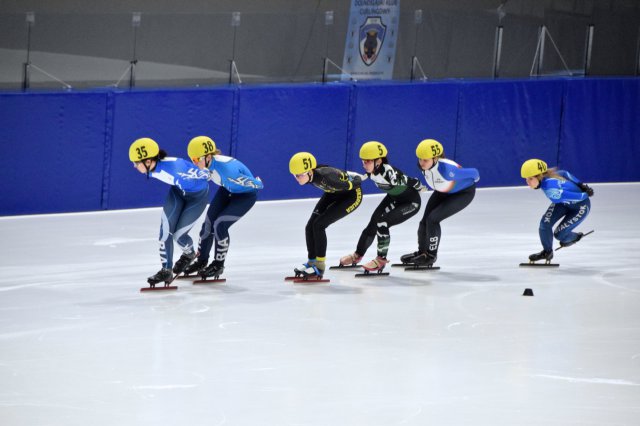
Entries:
[[[558, 170], [557, 177], [544, 177], [539, 188], [551, 200], [551, 205], [540, 220], [540, 242], [545, 251], [553, 249], [553, 238], [570, 243], [578, 238], [573, 230], [589, 215], [591, 201], [578, 187], [582, 182], [565, 170]], [[553, 231], [553, 225], [562, 220]]]

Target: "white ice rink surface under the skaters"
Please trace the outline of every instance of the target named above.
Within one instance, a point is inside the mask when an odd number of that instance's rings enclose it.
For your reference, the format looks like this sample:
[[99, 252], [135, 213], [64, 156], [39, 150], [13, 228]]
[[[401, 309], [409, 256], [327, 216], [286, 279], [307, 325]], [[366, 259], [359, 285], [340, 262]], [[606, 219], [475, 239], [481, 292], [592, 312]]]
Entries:
[[[593, 187], [595, 233], [559, 268], [518, 267], [544, 195], [480, 189], [442, 224], [441, 270], [291, 284], [316, 200], [259, 202], [225, 284], [151, 294], [160, 209], [0, 218], [0, 424], [638, 425], [640, 184]], [[380, 200], [329, 228], [328, 263]]]

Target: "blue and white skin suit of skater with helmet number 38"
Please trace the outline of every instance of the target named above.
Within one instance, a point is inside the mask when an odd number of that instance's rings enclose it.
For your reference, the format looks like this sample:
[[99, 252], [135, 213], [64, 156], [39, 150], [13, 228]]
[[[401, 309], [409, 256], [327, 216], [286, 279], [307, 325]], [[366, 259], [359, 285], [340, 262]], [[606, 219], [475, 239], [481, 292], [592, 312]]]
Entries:
[[203, 264], [208, 262], [215, 240], [213, 261], [222, 266], [229, 251], [229, 228], [253, 207], [258, 198], [258, 190], [264, 188], [264, 185], [241, 161], [224, 155], [214, 155], [209, 169], [204, 172], [220, 188], [213, 197], [202, 224], [198, 261]]

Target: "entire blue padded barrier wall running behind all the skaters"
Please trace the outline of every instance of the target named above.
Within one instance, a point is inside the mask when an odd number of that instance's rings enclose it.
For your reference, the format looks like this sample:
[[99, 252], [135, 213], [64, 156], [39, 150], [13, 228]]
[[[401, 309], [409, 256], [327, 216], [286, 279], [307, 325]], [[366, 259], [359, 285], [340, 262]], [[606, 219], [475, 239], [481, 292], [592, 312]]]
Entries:
[[640, 79], [0, 93], [0, 215], [162, 205], [166, 184], [134, 170], [129, 145], [149, 136], [186, 158], [201, 134], [264, 180], [261, 200], [319, 197], [290, 176], [291, 155], [362, 171], [367, 140], [416, 177], [415, 146], [435, 138], [480, 186], [524, 185], [531, 157], [586, 182], [638, 181]]

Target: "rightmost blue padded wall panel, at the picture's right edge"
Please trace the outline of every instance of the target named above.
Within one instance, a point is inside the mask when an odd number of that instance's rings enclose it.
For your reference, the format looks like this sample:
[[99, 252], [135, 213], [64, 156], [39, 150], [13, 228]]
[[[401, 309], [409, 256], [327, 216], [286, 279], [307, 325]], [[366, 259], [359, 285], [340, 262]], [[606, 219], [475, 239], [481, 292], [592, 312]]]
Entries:
[[559, 165], [596, 182], [640, 180], [640, 84], [567, 82]]

